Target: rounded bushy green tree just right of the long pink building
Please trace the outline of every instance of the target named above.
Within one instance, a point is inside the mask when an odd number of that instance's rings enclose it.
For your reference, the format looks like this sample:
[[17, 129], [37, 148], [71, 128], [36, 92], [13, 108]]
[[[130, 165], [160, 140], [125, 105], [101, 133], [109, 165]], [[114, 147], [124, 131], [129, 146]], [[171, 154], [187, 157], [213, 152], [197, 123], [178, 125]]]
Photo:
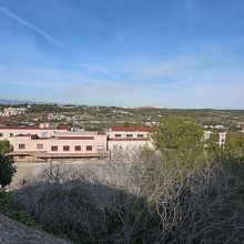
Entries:
[[166, 116], [155, 128], [152, 139], [155, 149], [166, 160], [194, 163], [205, 160], [203, 135], [200, 125], [176, 116]]

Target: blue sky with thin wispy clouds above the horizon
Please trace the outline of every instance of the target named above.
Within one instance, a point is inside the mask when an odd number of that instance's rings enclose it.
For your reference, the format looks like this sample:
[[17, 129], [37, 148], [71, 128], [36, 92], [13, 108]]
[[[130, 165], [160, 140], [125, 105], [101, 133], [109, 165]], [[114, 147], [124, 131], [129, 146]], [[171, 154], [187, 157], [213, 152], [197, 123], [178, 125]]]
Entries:
[[0, 99], [244, 109], [243, 0], [0, 0]]

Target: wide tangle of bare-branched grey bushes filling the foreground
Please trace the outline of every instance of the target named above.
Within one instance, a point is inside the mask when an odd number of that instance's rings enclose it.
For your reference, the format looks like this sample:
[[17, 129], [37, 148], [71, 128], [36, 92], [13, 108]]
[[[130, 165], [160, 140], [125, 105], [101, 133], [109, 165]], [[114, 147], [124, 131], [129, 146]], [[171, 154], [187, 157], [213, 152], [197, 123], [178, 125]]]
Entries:
[[78, 173], [58, 165], [29, 182], [18, 204], [77, 243], [244, 242], [242, 163], [191, 167], [154, 152], [125, 159], [104, 165], [105, 176], [101, 166]]

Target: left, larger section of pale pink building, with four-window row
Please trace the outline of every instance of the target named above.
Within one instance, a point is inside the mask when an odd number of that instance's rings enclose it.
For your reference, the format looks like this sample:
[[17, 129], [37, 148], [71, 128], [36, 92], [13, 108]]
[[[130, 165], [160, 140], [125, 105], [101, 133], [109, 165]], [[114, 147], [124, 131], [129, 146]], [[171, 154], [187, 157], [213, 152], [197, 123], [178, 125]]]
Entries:
[[14, 161], [100, 157], [106, 152], [106, 134], [72, 131], [42, 123], [34, 126], [0, 126], [0, 140], [8, 140]]

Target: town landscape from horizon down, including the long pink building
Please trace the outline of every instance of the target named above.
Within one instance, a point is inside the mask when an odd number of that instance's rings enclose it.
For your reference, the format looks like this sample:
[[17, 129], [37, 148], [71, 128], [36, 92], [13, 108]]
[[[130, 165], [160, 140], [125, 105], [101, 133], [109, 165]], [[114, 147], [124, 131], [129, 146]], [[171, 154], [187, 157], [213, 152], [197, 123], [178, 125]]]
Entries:
[[16, 162], [95, 161], [152, 148], [151, 133], [166, 115], [200, 124], [204, 140], [217, 132], [220, 146], [227, 134], [244, 132], [243, 111], [28, 103], [0, 108], [0, 140], [10, 142]]

